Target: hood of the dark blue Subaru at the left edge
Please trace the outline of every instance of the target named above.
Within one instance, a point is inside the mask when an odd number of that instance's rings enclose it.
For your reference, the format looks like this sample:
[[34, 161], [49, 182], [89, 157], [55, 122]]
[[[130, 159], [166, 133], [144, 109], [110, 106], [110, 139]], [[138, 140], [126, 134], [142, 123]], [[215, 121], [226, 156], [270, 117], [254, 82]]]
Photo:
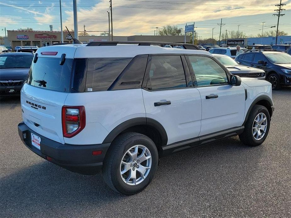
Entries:
[[1, 80], [27, 79], [29, 68], [0, 69]]

